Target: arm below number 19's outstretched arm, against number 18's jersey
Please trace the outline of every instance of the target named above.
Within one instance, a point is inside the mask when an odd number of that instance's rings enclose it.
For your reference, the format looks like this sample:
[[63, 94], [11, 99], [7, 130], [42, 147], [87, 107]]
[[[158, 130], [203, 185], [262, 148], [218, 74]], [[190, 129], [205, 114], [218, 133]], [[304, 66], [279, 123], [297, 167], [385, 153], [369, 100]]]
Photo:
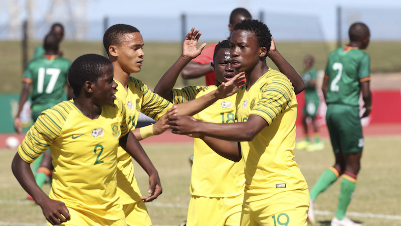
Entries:
[[240, 143], [204, 136], [202, 140], [217, 154], [234, 162], [241, 160]]

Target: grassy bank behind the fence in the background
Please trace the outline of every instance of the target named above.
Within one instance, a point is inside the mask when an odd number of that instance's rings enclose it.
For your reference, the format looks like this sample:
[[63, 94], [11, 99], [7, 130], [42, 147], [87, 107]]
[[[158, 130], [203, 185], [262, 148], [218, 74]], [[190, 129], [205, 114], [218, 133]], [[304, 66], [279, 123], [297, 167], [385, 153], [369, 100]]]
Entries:
[[[211, 44], [211, 43], [210, 43]], [[39, 42], [29, 43], [29, 59], [33, 56]], [[147, 43], [144, 46], [144, 65], [139, 74], [133, 76], [141, 79], [150, 88], [154, 88], [159, 78], [175, 62], [181, 53], [181, 43]], [[86, 53], [103, 54], [101, 42], [67, 42], [61, 44], [64, 57], [74, 60]], [[311, 54], [315, 57], [315, 66], [324, 69], [328, 53], [335, 48], [332, 43], [324, 42], [277, 42], [277, 49], [294, 66], [298, 72], [302, 72], [302, 61], [305, 55]], [[20, 92], [22, 69], [22, 47], [21, 42], [1, 41], [0, 49], [0, 93]], [[372, 72], [397, 72], [401, 71], [398, 55], [401, 49], [401, 42], [372, 42], [366, 52], [371, 57]], [[273, 66], [271, 61], [268, 65]], [[176, 86], [182, 86], [182, 79], [179, 78]], [[188, 81], [189, 85], [204, 85], [205, 79], [198, 78]]]

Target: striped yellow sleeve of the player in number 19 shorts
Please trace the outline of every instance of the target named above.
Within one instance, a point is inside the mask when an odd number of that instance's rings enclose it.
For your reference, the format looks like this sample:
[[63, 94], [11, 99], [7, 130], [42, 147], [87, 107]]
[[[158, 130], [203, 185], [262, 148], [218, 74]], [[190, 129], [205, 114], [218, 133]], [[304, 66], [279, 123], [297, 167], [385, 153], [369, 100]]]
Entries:
[[261, 99], [251, 110], [251, 115], [262, 117], [268, 125], [291, 107], [293, 86], [284, 76], [275, 76], [260, 86]]

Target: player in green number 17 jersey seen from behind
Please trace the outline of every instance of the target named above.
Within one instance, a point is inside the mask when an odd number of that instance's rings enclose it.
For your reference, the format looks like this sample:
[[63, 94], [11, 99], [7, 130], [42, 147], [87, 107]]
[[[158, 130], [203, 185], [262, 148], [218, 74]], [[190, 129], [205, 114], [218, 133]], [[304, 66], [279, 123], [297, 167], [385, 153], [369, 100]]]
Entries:
[[[66, 100], [65, 86], [68, 86], [68, 98], [72, 98], [72, 89], [68, 85], [68, 70], [71, 61], [59, 56], [59, 38], [51, 33], [45, 37], [45, 55], [31, 60], [24, 72], [22, 81], [20, 103], [14, 121], [17, 133], [22, 132], [20, 114], [24, 103], [28, 99], [32, 86], [32, 119], [35, 122], [42, 111]], [[49, 152], [35, 161], [33, 171], [39, 187], [45, 183], [46, 178], [52, 175], [52, 159]], [[29, 195], [28, 198], [32, 199]]]

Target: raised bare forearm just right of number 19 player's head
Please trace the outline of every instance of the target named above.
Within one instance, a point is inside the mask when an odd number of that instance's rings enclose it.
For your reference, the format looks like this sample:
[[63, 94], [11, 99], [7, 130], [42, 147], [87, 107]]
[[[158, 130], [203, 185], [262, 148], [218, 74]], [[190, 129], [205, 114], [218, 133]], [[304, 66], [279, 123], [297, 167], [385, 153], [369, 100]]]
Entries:
[[305, 89], [305, 83], [301, 76], [295, 71], [290, 63], [280, 54], [278, 50], [270, 51], [268, 54], [269, 58], [278, 67], [281, 73], [290, 79], [292, 85], [294, 86], [295, 94], [302, 92]]

